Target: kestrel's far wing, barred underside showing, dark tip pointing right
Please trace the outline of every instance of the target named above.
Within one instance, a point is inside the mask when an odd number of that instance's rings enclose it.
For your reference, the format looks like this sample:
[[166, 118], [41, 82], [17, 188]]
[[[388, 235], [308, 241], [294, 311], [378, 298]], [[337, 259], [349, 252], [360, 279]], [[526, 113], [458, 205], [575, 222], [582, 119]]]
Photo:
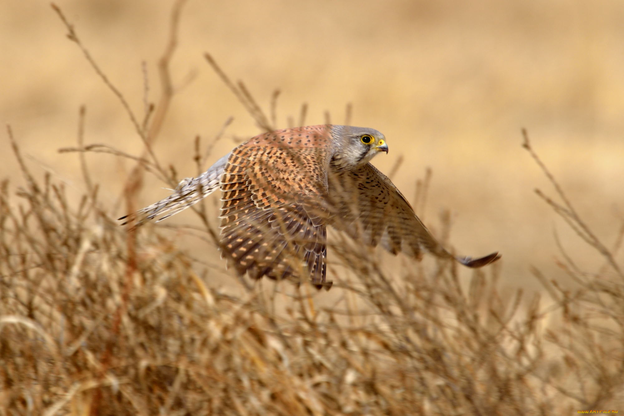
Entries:
[[383, 245], [392, 254], [402, 251], [416, 259], [423, 252], [454, 258], [468, 267], [482, 267], [500, 258], [495, 252], [485, 257], [455, 257], [431, 235], [414, 214], [409, 202], [390, 179], [366, 164], [329, 178], [329, 194], [336, 207], [331, 224], [354, 239]]

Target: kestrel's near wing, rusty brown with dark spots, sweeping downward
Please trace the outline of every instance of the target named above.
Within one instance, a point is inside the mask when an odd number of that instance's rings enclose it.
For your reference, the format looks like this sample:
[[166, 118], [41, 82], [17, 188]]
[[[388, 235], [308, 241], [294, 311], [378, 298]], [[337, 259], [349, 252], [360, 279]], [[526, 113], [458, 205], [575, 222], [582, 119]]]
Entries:
[[310, 277], [329, 289], [323, 201], [331, 154], [323, 132], [305, 133], [314, 136], [313, 146], [293, 146], [278, 131], [232, 151], [221, 181], [220, 245], [240, 274], [296, 282]]

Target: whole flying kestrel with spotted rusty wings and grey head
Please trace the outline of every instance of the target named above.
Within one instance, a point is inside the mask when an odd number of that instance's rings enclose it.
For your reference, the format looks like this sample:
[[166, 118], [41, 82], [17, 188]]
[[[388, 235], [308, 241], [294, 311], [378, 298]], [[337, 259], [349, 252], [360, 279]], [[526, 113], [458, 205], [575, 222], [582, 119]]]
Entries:
[[388, 153], [374, 129], [308, 126], [252, 137], [174, 194], [120, 218], [157, 221], [222, 191], [220, 250], [238, 273], [255, 279], [325, 280], [326, 226], [392, 254], [420, 259], [423, 252], [482, 267], [498, 253], [454, 257], [418, 219], [390, 179], [369, 163]]

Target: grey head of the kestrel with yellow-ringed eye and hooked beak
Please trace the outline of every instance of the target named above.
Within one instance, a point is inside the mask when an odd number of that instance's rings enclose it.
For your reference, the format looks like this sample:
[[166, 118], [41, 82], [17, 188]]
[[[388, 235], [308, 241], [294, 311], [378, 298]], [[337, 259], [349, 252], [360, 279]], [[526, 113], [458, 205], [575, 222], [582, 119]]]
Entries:
[[333, 126], [332, 132], [336, 144], [339, 145], [336, 158], [345, 166], [362, 166], [379, 152], [388, 153], [386, 137], [375, 129]]

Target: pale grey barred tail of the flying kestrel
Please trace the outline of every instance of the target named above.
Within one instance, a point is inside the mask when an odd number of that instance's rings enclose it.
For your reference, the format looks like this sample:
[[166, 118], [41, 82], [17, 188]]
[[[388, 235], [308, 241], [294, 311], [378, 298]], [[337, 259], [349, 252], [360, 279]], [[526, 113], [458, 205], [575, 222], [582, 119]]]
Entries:
[[183, 209], [187, 209], [193, 204], [197, 204], [197, 202], [219, 189], [219, 181], [225, 169], [225, 165], [227, 164], [228, 157], [230, 157], [230, 153], [215, 162], [213, 166], [209, 167], [208, 170], [203, 172], [200, 176], [184, 179], [178, 184], [175, 192], [165, 199], [161, 199], [149, 207], [140, 209], [134, 214], [121, 217], [119, 220], [125, 220], [121, 225], [134, 222], [134, 226], [139, 227], [139, 225], [145, 224], [145, 222], [154, 219], [158, 215], [161, 215], [161, 217], [158, 218], [156, 222], [162, 221]]

